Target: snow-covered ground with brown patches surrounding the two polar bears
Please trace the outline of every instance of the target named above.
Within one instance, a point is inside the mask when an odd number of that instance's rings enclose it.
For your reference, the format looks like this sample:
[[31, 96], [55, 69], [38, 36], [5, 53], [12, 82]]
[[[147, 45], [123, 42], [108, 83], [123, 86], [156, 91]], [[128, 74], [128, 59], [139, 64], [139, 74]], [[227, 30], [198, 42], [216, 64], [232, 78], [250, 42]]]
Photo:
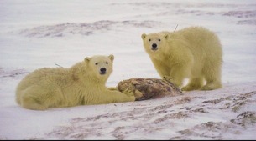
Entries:
[[[15, 88], [37, 68], [115, 56], [107, 86], [159, 78], [141, 34], [189, 26], [221, 39], [223, 88], [34, 111]], [[256, 139], [256, 1], [1, 0], [0, 139]]]

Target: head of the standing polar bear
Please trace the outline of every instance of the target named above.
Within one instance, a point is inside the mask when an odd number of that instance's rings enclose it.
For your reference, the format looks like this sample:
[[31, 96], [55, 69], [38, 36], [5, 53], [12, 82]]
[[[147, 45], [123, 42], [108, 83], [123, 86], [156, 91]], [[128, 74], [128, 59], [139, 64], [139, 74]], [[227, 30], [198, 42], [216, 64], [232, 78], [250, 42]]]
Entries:
[[141, 38], [147, 53], [165, 53], [168, 33], [149, 33], [148, 35], [143, 33]]

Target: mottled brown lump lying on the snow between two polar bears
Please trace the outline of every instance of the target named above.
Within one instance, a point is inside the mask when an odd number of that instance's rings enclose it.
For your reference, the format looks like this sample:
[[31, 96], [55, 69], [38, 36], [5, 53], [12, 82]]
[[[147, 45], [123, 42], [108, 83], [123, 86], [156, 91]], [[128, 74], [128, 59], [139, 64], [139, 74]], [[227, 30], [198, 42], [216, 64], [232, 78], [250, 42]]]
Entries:
[[130, 78], [118, 83], [120, 92], [134, 93], [136, 101], [182, 94], [173, 83], [159, 78]]

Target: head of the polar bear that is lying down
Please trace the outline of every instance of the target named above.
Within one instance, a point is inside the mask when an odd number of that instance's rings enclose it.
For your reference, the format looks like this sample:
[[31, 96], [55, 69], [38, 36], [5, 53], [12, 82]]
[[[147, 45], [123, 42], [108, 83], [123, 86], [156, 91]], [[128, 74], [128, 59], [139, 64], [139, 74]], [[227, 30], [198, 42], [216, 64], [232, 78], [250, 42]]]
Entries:
[[86, 57], [86, 71], [91, 74], [91, 77], [98, 78], [103, 82], [106, 82], [107, 78], [112, 73], [113, 60], [113, 55], [95, 55], [93, 57]]

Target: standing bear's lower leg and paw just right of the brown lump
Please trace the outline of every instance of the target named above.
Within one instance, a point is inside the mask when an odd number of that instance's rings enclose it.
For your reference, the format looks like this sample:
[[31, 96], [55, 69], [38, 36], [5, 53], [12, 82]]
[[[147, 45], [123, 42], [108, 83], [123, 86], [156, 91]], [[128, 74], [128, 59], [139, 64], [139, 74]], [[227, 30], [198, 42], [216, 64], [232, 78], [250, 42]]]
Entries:
[[190, 82], [183, 88], [182, 91], [191, 91], [200, 89], [203, 86], [203, 78], [191, 78]]

